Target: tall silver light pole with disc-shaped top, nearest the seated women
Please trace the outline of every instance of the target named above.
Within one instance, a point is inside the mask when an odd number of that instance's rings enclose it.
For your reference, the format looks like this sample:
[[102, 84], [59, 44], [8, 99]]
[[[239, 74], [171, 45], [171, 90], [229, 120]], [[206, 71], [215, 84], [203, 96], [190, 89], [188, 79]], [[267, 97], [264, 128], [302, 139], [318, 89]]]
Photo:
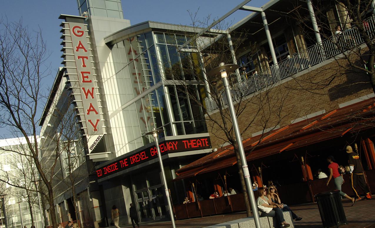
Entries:
[[241, 157], [241, 162], [242, 162], [243, 175], [245, 176], [246, 190], [250, 198], [250, 205], [251, 205], [251, 210], [253, 211], [255, 227], [261, 228], [259, 214], [258, 214], [258, 207], [257, 207], [257, 204], [255, 203], [254, 191], [252, 189], [252, 184], [250, 180], [248, 162], [246, 161], [245, 151], [243, 150], [240, 128], [238, 126], [237, 116], [234, 110], [232, 94], [231, 94], [231, 90], [229, 88], [229, 82], [228, 82], [228, 73], [236, 71], [239, 67], [240, 66], [237, 64], [225, 65], [224, 63], [220, 63], [219, 67], [211, 69], [211, 71], [208, 72], [208, 76], [215, 77], [216, 75], [219, 75], [219, 74], [221, 75], [221, 79], [223, 81], [223, 85], [225, 88], [226, 99], [228, 100], [228, 108], [232, 117], [234, 133], [236, 134], [236, 141], [237, 141], [237, 145], [238, 145], [238, 149], [239, 149], [239, 153]]

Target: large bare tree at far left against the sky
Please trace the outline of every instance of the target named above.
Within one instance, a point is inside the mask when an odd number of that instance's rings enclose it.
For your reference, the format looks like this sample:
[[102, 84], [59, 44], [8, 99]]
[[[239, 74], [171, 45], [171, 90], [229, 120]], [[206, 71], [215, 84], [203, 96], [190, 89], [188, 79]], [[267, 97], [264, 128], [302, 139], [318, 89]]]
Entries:
[[43, 166], [38, 143], [38, 110], [43, 107], [43, 91], [49, 91], [43, 84], [50, 76], [46, 44], [40, 30], [28, 31], [22, 21], [1, 20], [0, 29], [0, 125], [25, 138], [28, 151], [20, 154], [33, 161], [46, 188], [42, 194], [48, 200], [52, 225], [57, 227], [52, 178], [58, 155]]

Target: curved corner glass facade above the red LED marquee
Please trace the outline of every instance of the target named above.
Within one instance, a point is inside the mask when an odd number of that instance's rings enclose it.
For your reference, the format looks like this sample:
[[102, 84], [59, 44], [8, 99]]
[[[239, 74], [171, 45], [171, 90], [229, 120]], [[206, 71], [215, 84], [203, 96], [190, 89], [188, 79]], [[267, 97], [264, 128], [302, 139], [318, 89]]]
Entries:
[[[184, 42], [181, 34], [148, 32], [112, 46], [130, 151], [153, 141], [142, 136], [153, 127], [166, 136], [207, 132], [198, 105], [203, 87], [199, 55], [177, 52], [177, 44]], [[186, 81], [192, 83], [186, 86]]]

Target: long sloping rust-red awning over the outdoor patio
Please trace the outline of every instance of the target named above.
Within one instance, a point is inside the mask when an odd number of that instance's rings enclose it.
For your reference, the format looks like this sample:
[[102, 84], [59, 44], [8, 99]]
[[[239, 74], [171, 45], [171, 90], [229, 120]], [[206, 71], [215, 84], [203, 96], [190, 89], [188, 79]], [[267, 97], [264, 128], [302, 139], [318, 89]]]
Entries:
[[[341, 137], [375, 126], [375, 100], [332, 110], [243, 141], [246, 160], [259, 159], [282, 151]], [[259, 142], [260, 141], [260, 142]], [[251, 152], [250, 152], [251, 151]], [[175, 180], [226, 168], [236, 164], [233, 147], [228, 145], [177, 170]]]

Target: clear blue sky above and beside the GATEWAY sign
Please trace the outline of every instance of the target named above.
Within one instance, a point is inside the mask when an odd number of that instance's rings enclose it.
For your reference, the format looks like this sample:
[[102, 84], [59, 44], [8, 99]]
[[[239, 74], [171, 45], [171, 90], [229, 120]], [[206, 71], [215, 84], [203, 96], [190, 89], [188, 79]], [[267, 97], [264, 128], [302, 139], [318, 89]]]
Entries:
[[[203, 20], [208, 15], [211, 18], [220, 18], [225, 13], [239, 5], [243, 0], [122, 0], [124, 18], [129, 19], [132, 25], [143, 21], [158, 21], [163, 23], [190, 25], [189, 12], [197, 12], [197, 19]], [[53, 83], [57, 69], [62, 62], [60, 49], [61, 33], [58, 19], [60, 14], [78, 15], [77, 0], [1, 0], [0, 17], [8, 21], [23, 20], [29, 30], [42, 29], [43, 37], [50, 53], [51, 76], [49, 87]], [[267, 1], [252, 0], [249, 6], [260, 7]], [[198, 10], [199, 9], [199, 10]], [[237, 11], [228, 23], [241, 20], [249, 12]], [[42, 110], [41, 110], [42, 111]], [[8, 138], [0, 129], [0, 138]], [[11, 137], [11, 136], [10, 136]]]

